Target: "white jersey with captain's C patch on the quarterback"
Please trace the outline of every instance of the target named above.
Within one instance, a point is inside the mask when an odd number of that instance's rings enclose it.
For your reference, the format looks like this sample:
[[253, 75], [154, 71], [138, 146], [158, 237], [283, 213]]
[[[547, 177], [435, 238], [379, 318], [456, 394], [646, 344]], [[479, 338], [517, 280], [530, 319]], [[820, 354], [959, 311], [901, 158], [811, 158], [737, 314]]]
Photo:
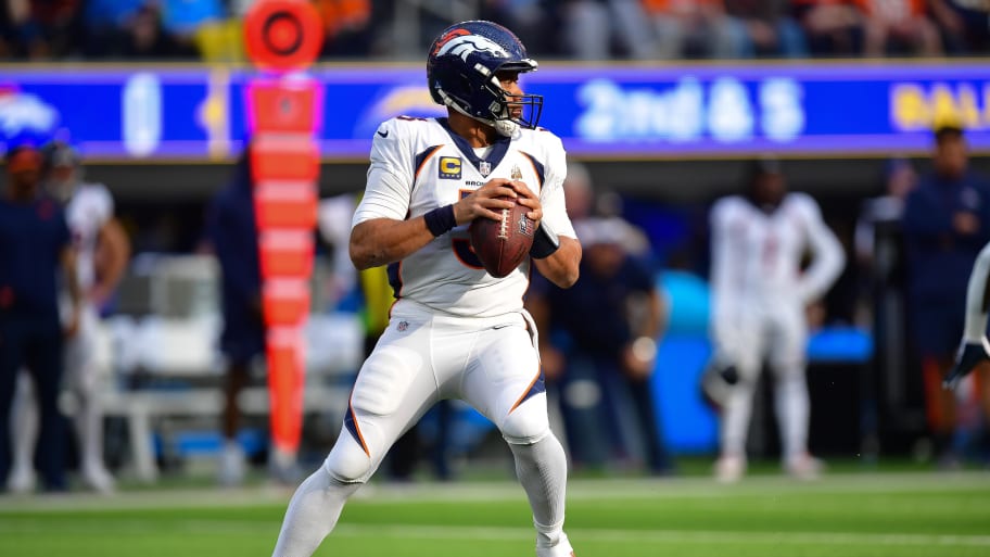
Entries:
[[[563, 202], [566, 165], [560, 139], [543, 129], [520, 129], [479, 157], [445, 118], [392, 118], [375, 135], [368, 185], [352, 227], [381, 217], [416, 218], [493, 178], [509, 178], [540, 195], [543, 220], [559, 236], [575, 238]], [[504, 278], [488, 275], [471, 250], [468, 225], [389, 265], [397, 299], [465, 317], [521, 311], [529, 274], [528, 259]]]

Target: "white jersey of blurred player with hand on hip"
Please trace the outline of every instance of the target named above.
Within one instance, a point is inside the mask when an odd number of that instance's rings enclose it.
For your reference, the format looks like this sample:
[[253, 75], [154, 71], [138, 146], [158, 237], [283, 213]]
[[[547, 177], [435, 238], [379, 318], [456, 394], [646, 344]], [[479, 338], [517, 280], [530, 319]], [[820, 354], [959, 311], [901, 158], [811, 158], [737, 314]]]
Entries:
[[[820, 298], [838, 278], [845, 255], [805, 193], [788, 193], [772, 213], [731, 195], [711, 214], [712, 291], [719, 314], [754, 306], [804, 304]], [[810, 251], [807, 269], [801, 262]]]

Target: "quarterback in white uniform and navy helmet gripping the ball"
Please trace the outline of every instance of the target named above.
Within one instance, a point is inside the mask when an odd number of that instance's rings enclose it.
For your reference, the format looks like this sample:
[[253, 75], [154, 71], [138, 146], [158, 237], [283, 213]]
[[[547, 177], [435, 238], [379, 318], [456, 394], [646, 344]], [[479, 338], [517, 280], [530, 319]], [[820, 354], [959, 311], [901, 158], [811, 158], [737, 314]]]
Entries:
[[563, 149], [534, 129], [542, 98], [518, 83], [533, 69], [508, 29], [454, 25], [433, 42], [427, 65], [430, 92], [448, 117], [396, 118], [376, 132], [350, 253], [358, 269], [389, 265], [397, 301], [358, 374], [337, 444], [289, 504], [275, 556], [312, 555], [392, 443], [443, 398], [467, 401], [508, 442], [533, 511], [536, 555], [573, 556], [563, 532], [567, 459], [547, 422], [536, 329], [522, 308], [530, 263], [496, 279], [466, 232], [471, 220], [498, 219], [511, 205], [498, 197], [517, 198], [538, 221], [535, 266], [560, 287], [578, 279]]

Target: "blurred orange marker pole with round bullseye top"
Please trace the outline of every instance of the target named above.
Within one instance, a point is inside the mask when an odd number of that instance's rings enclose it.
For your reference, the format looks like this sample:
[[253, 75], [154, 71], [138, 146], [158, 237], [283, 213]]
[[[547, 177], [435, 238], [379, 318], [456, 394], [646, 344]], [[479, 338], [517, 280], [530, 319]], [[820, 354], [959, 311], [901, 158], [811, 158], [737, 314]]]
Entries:
[[[271, 441], [277, 466], [299, 453], [305, 387], [303, 327], [309, 314], [322, 88], [302, 72], [316, 60], [322, 25], [304, 0], [262, 0], [244, 20], [251, 169], [258, 228]], [[289, 75], [292, 74], [291, 77]]]

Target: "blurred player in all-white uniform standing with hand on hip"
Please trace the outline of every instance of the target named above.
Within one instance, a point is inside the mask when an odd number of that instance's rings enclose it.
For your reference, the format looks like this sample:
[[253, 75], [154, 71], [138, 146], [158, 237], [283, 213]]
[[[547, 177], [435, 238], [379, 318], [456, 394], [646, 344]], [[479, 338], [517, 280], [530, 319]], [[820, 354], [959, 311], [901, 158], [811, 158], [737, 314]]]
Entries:
[[[775, 162], [758, 163], [750, 187], [748, 197], [723, 198], [711, 213], [712, 334], [719, 358], [738, 372], [724, 401], [716, 474], [735, 481], [746, 469], [753, 389], [765, 357], [774, 372], [785, 468], [811, 477], [820, 463], [808, 454], [805, 308], [839, 276], [845, 255], [814, 200], [786, 192]], [[808, 250], [813, 261], [802, 270]]]

